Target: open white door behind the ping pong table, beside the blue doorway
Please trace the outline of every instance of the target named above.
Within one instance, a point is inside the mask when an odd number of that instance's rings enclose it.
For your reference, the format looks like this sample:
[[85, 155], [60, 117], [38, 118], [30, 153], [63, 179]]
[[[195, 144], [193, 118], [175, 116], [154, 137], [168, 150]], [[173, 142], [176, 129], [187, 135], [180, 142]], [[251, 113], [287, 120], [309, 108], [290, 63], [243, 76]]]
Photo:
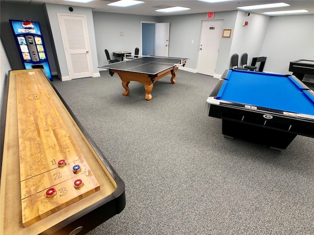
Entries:
[[155, 55], [168, 56], [170, 23], [156, 23]]

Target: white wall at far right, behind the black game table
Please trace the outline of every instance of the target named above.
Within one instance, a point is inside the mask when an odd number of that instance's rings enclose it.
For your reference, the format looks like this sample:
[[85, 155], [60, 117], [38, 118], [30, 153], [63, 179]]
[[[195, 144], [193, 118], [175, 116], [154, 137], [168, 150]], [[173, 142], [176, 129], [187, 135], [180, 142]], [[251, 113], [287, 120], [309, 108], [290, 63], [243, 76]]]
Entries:
[[262, 45], [264, 71], [289, 72], [289, 62], [314, 60], [314, 15], [273, 16]]

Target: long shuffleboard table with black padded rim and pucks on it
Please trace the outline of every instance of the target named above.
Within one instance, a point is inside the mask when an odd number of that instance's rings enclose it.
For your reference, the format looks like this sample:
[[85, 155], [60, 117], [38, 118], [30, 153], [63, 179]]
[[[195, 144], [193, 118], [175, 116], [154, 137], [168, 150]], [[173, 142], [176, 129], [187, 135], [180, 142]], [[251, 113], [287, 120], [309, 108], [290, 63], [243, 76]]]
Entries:
[[123, 211], [123, 180], [43, 70], [6, 79], [0, 234], [80, 235]]

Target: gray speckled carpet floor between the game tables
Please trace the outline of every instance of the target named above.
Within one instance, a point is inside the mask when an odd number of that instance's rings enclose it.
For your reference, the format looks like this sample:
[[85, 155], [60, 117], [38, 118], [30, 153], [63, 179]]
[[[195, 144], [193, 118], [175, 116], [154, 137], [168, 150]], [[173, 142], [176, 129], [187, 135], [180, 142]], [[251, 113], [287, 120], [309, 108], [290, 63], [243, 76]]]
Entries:
[[52, 84], [126, 188], [126, 207], [88, 235], [313, 235], [314, 139], [286, 150], [224, 138], [206, 117], [218, 79], [179, 70], [145, 100], [117, 74]]

